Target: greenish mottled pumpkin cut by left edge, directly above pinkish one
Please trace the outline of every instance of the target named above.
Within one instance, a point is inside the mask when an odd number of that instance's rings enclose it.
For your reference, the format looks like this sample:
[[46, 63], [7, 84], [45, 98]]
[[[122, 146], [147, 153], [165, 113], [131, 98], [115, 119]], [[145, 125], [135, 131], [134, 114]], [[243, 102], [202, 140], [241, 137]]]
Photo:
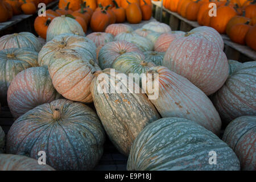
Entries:
[[7, 90], [11, 80], [21, 71], [38, 67], [38, 52], [25, 48], [0, 51], [0, 101], [7, 104]]

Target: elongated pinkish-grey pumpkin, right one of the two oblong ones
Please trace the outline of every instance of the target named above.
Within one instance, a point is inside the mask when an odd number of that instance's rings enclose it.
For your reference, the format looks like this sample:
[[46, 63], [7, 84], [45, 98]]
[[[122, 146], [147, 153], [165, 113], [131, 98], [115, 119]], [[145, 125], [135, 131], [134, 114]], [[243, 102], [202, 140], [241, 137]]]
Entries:
[[[163, 118], [180, 117], [195, 121], [218, 135], [221, 119], [209, 98], [187, 78], [177, 75], [166, 67], [154, 67], [150, 72], [157, 73], [159, 96], [151, 100]], [[155, 85], [154, 80], [147, 80]], [[154, 90], [147, 90], [153, 93]]]

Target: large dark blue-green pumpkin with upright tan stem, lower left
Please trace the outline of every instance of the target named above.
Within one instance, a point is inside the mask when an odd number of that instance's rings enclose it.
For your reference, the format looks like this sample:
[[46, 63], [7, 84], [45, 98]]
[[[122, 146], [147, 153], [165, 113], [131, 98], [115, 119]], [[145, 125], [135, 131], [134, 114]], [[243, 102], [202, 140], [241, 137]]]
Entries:
[[[60, 119], [53, 119], [59, 109]], [[23, 114], [7, 134], [7, 153], [38, 159], [57, 170], [93, 169], [103, 153], [105, 133], [90, 107], [69, 100], [55, 100]]]

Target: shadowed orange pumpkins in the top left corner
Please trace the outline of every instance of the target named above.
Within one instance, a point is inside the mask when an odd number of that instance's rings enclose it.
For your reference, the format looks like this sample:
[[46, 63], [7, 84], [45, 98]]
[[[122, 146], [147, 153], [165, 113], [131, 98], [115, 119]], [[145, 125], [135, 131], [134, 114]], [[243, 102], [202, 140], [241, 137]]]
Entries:
[[14, 15], [35, 14], [39, 3], [46, 5], [53, 0], [0, 0], [0, 23], [6, 22]]

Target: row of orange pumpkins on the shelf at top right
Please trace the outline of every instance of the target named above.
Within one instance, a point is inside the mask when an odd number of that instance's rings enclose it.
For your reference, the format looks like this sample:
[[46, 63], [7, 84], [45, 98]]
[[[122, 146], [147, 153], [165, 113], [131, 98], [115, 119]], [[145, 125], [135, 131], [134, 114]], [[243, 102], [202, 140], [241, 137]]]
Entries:
[[[209, 16], [210, 3], [217, 5], [217, 16]], [[247, 44], [256, 50], [255, 0], [166, 0], [163, 6], [201, 26], [213, 27], [220, 34], [226, 33], [235, 43]], [[254, 30], [249, 31], [250, 28]]]

